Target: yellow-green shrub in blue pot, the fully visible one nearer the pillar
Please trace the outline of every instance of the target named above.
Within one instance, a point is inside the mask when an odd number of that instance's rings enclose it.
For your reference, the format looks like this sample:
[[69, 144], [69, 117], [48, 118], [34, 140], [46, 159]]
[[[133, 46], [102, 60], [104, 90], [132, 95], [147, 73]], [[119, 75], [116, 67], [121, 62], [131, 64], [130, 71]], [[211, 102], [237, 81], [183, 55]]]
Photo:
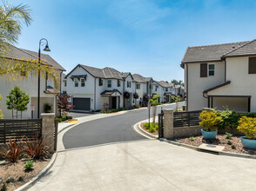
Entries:
[[199, 125], [203, 128], [201, 133], [204, 139], [215, 139], [218, 134], [218, 123], [222, 120], [221, 116], [218, 116], [212, 111], [202, 111], [199, 115]]

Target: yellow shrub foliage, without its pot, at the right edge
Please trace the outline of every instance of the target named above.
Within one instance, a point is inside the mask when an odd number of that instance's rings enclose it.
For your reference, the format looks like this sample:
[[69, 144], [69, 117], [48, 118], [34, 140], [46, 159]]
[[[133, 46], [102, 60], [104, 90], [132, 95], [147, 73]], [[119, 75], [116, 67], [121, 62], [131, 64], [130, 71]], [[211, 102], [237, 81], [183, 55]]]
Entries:
[[239, 120], [238, 130], [246, 134], [248, 139], [255, 139], [256, 135], [256, 118], [242, 116]]

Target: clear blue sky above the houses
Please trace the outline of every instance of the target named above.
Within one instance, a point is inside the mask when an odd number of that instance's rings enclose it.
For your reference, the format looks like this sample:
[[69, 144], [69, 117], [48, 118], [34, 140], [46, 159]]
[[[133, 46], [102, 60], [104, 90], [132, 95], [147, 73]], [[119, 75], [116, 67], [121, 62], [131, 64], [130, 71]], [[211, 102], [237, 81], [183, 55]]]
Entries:
[[[9, 0], [33, 22], [17, 47], [47, 52], [67, 73], [77, 64], [111, 67], [154, 80], [184, 80], [188, 46], [256, 38], [254, 0]], [[43, 47], [44, 49], [44, 47]]]

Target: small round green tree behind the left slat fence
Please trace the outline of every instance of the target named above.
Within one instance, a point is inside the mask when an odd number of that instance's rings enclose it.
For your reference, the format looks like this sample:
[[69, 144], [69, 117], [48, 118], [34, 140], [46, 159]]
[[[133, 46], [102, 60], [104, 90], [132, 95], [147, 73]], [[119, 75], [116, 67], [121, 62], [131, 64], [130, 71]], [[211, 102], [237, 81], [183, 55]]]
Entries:
[[13, 118], [13, 110], [16, 110], [16, 118], [17, 112], [22, 112], [28, 109], [28, 104], [30, 102], [30, 95], [27, 95], [24, 90], [20, 89], [17, 85], [10, 90], [10, 94], [7, 95], [7, 109], [12, 110], [12, 118]]

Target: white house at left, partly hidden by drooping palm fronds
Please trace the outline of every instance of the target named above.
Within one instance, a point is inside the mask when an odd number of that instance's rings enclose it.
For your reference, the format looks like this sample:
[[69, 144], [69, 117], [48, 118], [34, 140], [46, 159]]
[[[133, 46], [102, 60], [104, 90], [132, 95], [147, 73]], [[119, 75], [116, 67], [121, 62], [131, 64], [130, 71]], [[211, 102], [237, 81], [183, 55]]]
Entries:
[[[18, 59], [26, 59], [26, 60], [35, 60], [37, 59], [37, 52], [30, 51], [28, 49], [19, 49], [15, 46], [10, 45], [10, 52], [8, 55], [4, 56], [7, 61], [18, 60]], [[41, 54], [41, 60], [44, 60], [47, 64], [55, 67], [60, 76], [62, 76], [63, 71], [65, 69], [57, 63], [51, 56]], [[23, 89], [27, 94], [30, 95], [30, 103], [28, 105], [28, 109], [23, 112], [23, 118], [37, 118], [37, 92], [38, 92], [38, 78], [37, 76], [31, 78], [28, 76], [23, 80], [10, 81], [6, 76], [0, 77], [0, 94], [3, 96], [3, 100], [0, 101], [0, 109], [3, 111], [4, 118], [11, 118], [11, 110], [7, 109], [6, 106], [6, 95], [9, 95], [10, 89], [13, 89], [14, 86], [17, 85], [20, 89]], [[43, 76], [40, 79], [40, 114], [44, 112], [44, 104], [48, 103], [51, 105], [51, 112], [57, 114], [57, 94], [61, 90], [61, 85], [59, 89], [55, 89], [53, 82], [46, 80]], [[33, 104], [35, 106], [35, 110], [32, 112], [30, 110], [30, 105]], [[20, 117], [20, 112], [18, 112], [18, 117]]]

